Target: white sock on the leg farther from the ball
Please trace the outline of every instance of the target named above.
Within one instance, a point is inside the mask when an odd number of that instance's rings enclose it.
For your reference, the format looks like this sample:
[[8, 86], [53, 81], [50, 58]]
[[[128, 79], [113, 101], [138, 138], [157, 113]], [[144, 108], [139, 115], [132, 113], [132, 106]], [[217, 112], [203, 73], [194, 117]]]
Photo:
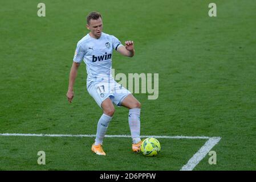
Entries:
[[102, 114], [99, 122], [97, 123], [97, 133], [96, 133], [96, 139], [95, 139], [95, 145], [103, 143], [103, 139], [105, 137], [105, 133], [108, 129], [109, 122], [111, 121], [112, 117], [106, 114]]

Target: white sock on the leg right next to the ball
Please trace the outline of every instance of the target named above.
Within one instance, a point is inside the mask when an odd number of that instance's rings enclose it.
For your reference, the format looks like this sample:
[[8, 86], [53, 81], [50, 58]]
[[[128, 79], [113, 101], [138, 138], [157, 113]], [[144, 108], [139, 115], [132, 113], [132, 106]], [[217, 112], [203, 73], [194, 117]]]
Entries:
[[130, 109], [128, 115], [132, 143], [140, 142], [140, 108]]

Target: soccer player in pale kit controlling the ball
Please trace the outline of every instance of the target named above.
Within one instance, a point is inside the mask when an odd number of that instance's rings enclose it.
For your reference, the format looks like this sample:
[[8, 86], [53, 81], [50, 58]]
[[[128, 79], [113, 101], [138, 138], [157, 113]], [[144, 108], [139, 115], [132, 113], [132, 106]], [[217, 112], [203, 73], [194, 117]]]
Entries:
[[96, 139], [95, 143], [92, 144], [92, 152], [97, 155], [105, 155], [102, 144], [109, 122], [115, 112], [113, 104], [129, 109], [128, 122], [132, 135], [132, 150], [139, 152], [141, 104], [129, 90], [118, 84], [111, 75], [113, 49], [121, 55], [133, 57], [135, 55], [133, 41], [126, 41], [125, 46], [123, 46], [115, 36], [102, 32], [103, 21], [101, 14], [97, 12], [87, 15], [87, 29], [90, 32], [76, 46], [70, 71], [68, 102], [71, 103], [74, 98], [73, 86], [79, 65], [83, 60], [87, 69], [88, 93], [103, 110], [97, 123]]

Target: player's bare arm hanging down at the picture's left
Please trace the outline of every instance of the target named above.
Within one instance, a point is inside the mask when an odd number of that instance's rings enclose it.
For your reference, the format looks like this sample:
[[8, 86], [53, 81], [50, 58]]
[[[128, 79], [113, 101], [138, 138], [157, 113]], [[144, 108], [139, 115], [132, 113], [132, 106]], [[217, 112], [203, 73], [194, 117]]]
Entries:
[[70, 79], [68, 83], [68, 91], [67, 91], [67, 98], [68, 102], [72, 102], [72, 99], [74, 98], [74, 84], [75, 84], [75, 79], [76, 75], [78, 75], [78, 68], [79, 68], [80, 63], [75, 63], [73, 62], [71, 70], [70, 70]]

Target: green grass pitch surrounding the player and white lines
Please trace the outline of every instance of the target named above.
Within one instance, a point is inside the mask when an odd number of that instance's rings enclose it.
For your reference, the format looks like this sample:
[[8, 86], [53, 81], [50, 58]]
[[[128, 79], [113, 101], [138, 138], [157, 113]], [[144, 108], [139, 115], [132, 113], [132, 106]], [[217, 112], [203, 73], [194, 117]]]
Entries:
[[[255, 170], [255, 1], [1, 1], [0, 133], [95, 134], [101, 109], [79, 68], [68, 104], [76, 43], [86, 15], [100, 11], [104, 32], [135, 42], [132, 58], [113, 55], [116, 73], [159, 73], [159, 98], [141, 102], [141, 135], [221, 137], [193, 170]], [[209, 17], [209, 3], [217, 17]], [[128, 110], [116, 107], [108, 135], [129, 135]], [[180, 170], [205, 139], [159, 139], [160, 155], [133, 154], [130, 138], [0, 136], [0, 170]], [[46, 152], [39, 165], [38, 151]]]

